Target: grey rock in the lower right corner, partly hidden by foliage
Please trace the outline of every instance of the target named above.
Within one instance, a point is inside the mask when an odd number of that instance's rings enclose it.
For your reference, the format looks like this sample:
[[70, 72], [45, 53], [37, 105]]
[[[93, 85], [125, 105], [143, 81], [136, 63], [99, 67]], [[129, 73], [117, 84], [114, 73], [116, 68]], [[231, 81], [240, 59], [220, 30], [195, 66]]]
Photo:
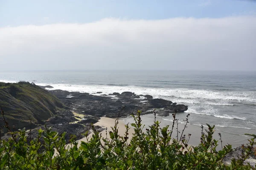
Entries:
[[[236, 149], [234, 149], [233, 151], [231, 151], [230, 153], [228, 153], [224, 159], [223, 159], [223, 163], [226, 165], [230, 165], [232, 159], [238, 159], [241, 158], [242, 155], [242, 147], [237, 147]], [[245, 159], [244, 161], [244, 165], [246, 165], [247, 163], [250, 164], [251, 167], [255, 168], [256, 165], [256, 156], [252, 153], [250, 154], [249, 158]]]

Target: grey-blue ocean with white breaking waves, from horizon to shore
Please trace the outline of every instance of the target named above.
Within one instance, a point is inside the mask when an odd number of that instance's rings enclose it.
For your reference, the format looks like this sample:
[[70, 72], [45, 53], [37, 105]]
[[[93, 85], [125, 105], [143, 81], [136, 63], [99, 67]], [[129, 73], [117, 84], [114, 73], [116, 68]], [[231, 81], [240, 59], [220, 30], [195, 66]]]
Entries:
[[[86, 66], [86, 65], [85, 65]], [[0, 82], [35, 82], [53, 89], [94, 94], [131, 91], [149, 94], [188, 105], [185, 113], [177, 114], [183, 127], [189, 113], [188, 132], [196, 133], [191, 144], [200, 142], [200, 126], [215, 125], [224, 144], [246, 143], [256, 134], [256, 72], [245, 71], [9, 71], [0, 72]], [[153, 115], [143, 116], [152, 123]], [[162, 125], [171, 125], [172, 116], [157, 116]], [[131, 122], [131, 117], [125, 122]], [[199, 130], [198, 130], [199, 129]], [[196, 132], [193, 132], [193, 130]], [[216, 136], [218, 138], [218, 135]], [[198, 139], [198, 140], [196, 140]]]

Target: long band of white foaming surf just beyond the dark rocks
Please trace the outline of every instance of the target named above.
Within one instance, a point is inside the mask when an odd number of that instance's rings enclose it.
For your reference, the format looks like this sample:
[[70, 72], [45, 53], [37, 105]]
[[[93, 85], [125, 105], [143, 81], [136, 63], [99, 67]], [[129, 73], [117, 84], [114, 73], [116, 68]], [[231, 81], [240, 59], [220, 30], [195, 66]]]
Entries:
[[[1, 81], [1, 80], [0, 80]], [[10, 82], [4, 80], [4, 82]], [[37, 83], [39, 84], [39, 83]], [[43, 83], [40, 83], [43, 84]], [[231, 105], [230, 102], [242, 103], [256, 103], [254, 98], [255, 93], [252, 91], [214, 91], [205, 89], [189, 89], [189, 88], [163, 88], [163, 87], [150, 87], [142, 85], [128, 85], [128, 84], [108, 84], [108, 85], [72, 85], [72, 84], [55, 84], [47, 83], [54, 87], [51, 90], [67, 90], [79, 91], [87, 93], [96, 93], [102, 91], [103, 94], [111, 94], [113, 92], [122, 93], [124, 91], [132, 91], [135, 94], [149, 94], [154, 98], [162, 98], [167, 100], [182, 99], [182, 102], [209, 104], [209, 105]], [[50, 89], [49, 89], [50, 90]], [[189, 101], [194, 100], [193, 102]], [[205, 100], [212, 100], [214, 102], [204, 102]]]

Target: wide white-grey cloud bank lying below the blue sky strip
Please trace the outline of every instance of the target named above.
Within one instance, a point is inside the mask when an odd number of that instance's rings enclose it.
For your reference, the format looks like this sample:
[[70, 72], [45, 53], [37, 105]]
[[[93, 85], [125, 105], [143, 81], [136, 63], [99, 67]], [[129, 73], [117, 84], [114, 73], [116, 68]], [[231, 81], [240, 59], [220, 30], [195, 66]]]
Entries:
[[0, 28], [2, 69], [255, 70], [256, 17]]

